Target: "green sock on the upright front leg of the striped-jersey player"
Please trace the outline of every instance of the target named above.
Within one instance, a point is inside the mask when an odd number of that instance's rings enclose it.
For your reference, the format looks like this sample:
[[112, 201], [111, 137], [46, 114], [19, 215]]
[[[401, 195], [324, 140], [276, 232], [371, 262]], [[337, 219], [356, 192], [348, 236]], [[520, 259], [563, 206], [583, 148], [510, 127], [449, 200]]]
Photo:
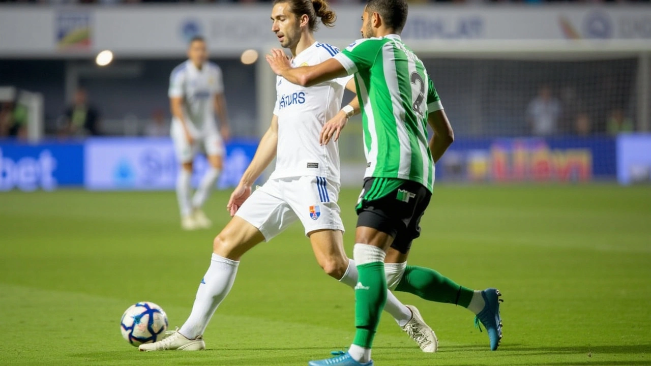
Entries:
[[355, 339], [353, 345], [371, 348], [380, 315], [387, 302], [387, 279], [384, 263], [372, 262], [357, 266], [359, 279], [355, 286]]

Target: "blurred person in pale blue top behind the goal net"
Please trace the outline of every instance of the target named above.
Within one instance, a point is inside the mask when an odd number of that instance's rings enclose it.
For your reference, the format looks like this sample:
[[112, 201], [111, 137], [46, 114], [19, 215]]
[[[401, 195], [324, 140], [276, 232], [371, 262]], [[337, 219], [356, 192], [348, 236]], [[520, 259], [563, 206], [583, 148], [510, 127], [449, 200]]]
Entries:
[[543, 85], [538, 96], [529, 102], [527, 120], [536, 136], [549, 136], [558, 132], [561, 102], [553, 98], [549, 85]]

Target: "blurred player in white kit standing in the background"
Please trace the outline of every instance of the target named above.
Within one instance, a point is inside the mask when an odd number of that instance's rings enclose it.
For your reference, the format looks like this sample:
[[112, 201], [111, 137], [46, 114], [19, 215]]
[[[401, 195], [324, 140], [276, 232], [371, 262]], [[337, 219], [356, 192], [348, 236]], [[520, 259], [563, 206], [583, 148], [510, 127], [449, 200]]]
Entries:
[[[206, 42], [201, 36], [192, 38], [187, 57], [186, 62], [172, 71], [168, 94], [173, 115], [171, 135], [174, 151], [181, 163], [176, 181], [181, 227], [194, 230], [212, 225], [201, 208], [221, 173], [222, 138], [229, 138], [229, 121], [221, 69], [208, 62]], [[217, 131], [215, 112], [219, 115], [220, 131]], [[192, 162], [200, 148], [208, 156], [210, 168], [191, 197]]]

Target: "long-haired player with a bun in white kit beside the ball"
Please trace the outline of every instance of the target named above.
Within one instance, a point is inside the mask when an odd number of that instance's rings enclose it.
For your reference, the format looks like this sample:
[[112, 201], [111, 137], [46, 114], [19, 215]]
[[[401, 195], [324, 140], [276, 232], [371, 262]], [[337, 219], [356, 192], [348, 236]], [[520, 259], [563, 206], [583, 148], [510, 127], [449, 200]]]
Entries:
[[[325, 0], [276, 0], [271, 13], [271, 30], [284, 48], [294, 55], [296, 66], [325, 61], [339, 49], [316, 42], [312, 32], [317, 18], [327, 26], [335, 20]], [[192, 312], [180, 330], [140, 350], [202, 350], [202, 334], [219, 303], [229, 293], [240, 258], [249, 249], [271, 240], [289, 225], [301, 221], [317, 262], [340, 282], [355, 288], [355, 262], [346, 257], [337, 204], [339, 195], [339, 150], [337, 144], [319, 144], [327, 120], [339, 113], [344, 89], [354, 89], [351, 77], [314, 87], [298, 87], [282, 77], [276, 81], [277, 100], [271, 126], [228, 208], [233, 218], [214, 240], [212, 262], [197, 290]], [[350, 114], [359, 104], [344, 107]], [[251, 193], [251, 185], [276, 156], [276, 169], [264, 186]], [[403, 305], [389, 293], [385, 311], [390, 313], [424, 352], [436, 352], [434, 331], [418, 310]]]

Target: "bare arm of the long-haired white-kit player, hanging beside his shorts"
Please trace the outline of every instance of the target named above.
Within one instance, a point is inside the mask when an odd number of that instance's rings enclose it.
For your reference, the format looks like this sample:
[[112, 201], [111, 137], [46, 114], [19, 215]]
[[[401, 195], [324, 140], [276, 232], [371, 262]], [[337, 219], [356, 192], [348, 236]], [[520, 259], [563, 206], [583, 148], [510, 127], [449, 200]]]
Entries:
[[262, 136], [262, 139], [260, 139], [253, 160], [251, 160], [249, 167], [244, 171], [244, 174], [240, 179], [240, 184], [238, 184], [230, 195], [229, 203], [226, 206], [227, 210], [230, 212], [230, 216], [234, 216], [244, 201], [249, 198], [249, 195], [251, 195], [251, 185], [253, 185], [253, 182], [255, 182], [258, 176], [262, 174], [262, 171], [269, 166], [271, 160], [276, 156], [277, 147], [278, 116], [273, 115], [271, 118], [271, 126], [267, 132], [265, 132], [264, 136]]

